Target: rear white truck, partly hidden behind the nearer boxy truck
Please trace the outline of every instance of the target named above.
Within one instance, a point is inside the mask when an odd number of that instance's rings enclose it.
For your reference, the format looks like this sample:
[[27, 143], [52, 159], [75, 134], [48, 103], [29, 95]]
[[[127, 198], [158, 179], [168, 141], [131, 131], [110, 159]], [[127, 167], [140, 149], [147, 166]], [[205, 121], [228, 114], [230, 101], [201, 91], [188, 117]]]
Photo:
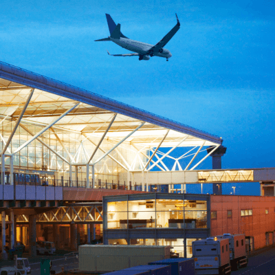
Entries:
[[232, 270], [239, 270], [240, 267], [246, 267], [248, 265], [248, 256], [245, 250], [245, 234], [225, 233], [217, 236], [217, 238], [229, 240]]

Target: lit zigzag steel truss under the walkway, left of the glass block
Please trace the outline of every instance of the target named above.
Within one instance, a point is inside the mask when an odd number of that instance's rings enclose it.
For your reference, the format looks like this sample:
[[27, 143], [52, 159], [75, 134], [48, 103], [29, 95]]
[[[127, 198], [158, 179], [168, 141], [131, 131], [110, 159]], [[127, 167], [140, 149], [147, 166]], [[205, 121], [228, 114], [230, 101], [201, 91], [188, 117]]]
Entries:
[[[36, 223], [102, 223], [102, 204], [94, 206], [61, 206], [36, 215]], [[28, 223], [29, 216], [19, 214], [17, 223]]]

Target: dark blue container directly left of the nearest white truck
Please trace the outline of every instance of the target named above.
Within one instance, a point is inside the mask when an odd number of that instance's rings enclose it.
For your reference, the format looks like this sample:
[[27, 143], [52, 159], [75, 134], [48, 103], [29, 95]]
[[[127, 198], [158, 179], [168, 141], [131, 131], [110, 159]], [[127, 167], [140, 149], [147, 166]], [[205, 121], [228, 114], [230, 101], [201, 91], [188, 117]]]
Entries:
[[149, 265], [171, 265], [173, 275], [195, 275], [194, 259], [174, 258], [148, 263]]

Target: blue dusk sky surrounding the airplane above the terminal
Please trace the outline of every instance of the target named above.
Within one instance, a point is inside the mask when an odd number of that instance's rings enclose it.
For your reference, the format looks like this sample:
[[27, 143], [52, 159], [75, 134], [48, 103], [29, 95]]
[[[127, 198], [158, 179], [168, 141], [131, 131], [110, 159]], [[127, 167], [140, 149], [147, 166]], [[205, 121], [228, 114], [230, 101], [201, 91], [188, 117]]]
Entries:
[[[2, 0], [0, 60], [219, 135], [228, 147], [223, 168], [272, 167], [274, 5]], [[168, 62], [115, 58], [106, 50], [127, 51], [94, 42], [109, 35], [105, 13], [124, 35], [155, 44], [175, 25], [175, 12], [181, 28], [166, 45]], [[237, 185], [236, 194], [259, 195], [259, 184]]]

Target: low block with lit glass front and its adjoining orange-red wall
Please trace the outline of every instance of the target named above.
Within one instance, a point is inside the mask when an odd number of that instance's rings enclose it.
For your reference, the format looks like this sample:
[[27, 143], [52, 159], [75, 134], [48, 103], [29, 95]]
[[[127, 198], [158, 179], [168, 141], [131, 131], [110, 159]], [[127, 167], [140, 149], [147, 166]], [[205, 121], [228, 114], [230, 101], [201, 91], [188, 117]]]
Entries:
[[103, 197], [104, 244], [171, 245], [192, 256], [192, 241], [245, 234], [246, 249], [274, 243], [275, 198], [147, 193]]

